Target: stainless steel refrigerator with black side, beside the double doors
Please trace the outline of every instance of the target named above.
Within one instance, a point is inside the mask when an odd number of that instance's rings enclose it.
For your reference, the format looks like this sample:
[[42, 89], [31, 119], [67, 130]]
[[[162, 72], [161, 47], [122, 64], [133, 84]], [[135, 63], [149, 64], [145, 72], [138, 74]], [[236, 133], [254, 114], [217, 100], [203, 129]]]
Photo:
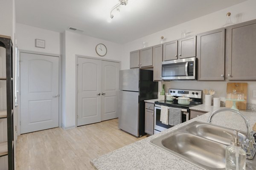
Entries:
[[145, 135], [145, 102], [156, 99], [158, 82], [153, 71], [133, 68], [119, 73], [119, 129], [134, 136]]

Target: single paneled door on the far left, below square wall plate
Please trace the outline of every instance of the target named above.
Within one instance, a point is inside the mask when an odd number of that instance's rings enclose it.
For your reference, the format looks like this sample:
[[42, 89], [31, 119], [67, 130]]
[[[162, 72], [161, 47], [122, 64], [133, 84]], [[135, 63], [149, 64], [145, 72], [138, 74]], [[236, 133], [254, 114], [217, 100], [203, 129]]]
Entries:
[[58, 127], [59, 57], [20, 53], [20, 133]]

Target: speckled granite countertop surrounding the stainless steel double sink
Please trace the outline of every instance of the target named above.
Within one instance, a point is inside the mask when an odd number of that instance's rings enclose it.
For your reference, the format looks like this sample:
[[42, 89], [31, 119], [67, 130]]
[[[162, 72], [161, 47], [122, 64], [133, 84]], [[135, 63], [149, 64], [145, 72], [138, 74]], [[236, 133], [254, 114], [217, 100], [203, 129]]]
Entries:
[[[91, 164], [96, 170], [201, 170], [194, 164], [191, 164], [177, 156], [172, 155], [149, 143], [151, 139], [169, 133], [179, 127], [182, 127], [193, 121], [207, 122], [212, 111], [218, 110], [213, 106], [199, 105], [192, 107], [195, 110], [209, 111], [202, 116], [198, 116], [187, 122], [184, 122], [175, 127], [154, 134], [138, 142], [134, 142], [111, 153], [107, 153], [91, 161]], [[240, 111], [247, 117], [251, 127], [256, 122], [256, 112]], [[237, 130], [246, 131], [244, 120], [232, 112], [221, 112], [214, 116], [212, 124], [224, 127], [230, 127]], [[255, 161], [256, 158], [253, 159]]]

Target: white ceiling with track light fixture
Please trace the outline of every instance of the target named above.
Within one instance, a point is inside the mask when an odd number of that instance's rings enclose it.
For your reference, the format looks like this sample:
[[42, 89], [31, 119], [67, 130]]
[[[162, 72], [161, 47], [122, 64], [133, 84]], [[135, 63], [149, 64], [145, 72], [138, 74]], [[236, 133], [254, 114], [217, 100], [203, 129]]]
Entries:
[[[17, 23], [126, 43], [233, 6], [245, 0], [128, 0], [119, 17], [107, 20], [119, 0], [16, 0]], [[116, 11], [114, 11], [115, 14]]]

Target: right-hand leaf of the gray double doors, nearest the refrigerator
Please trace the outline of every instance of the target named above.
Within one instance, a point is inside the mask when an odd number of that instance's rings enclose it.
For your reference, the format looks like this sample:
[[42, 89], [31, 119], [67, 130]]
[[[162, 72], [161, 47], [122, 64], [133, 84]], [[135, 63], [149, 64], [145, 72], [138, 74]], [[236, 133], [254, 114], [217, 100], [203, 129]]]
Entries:
[[117, 118], [119, 91], [119, 63], [102, 61], [102, 114], [101, 120]]

